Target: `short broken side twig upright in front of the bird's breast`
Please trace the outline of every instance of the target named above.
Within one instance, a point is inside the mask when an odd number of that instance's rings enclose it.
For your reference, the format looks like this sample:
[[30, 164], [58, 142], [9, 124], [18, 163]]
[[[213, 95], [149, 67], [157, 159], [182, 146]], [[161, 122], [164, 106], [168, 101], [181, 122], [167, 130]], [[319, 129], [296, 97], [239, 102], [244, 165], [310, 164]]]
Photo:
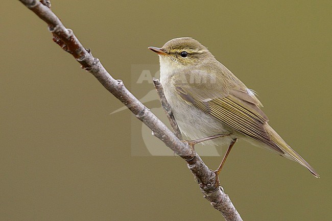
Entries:
[[177, 122], [174, 118], [172, 108], [171, 108], [170, 104], [168, 103], [168, 101], [165, 97], [165, 94], [163, 92], [163, 87], [160, 84], [159, 79], [153, 78], [153, 84], [154, 84], [154, 87], [157, 90], [157, 93], [158, 93], [159, 97], [160, 97], [160, 102], [161, 102], [162, 109], [164, 110], [167, 118], [170, 121], [170, 124], [171, 124], [171, 126], [174, 130], [175, 136], [177, 138], [179, 138], [180, 140], [182, 140], [182, 134], [181, 134], [180, 128], [179, 128], [179, 126], [178, 126], [178, 124], [177, 124]]

